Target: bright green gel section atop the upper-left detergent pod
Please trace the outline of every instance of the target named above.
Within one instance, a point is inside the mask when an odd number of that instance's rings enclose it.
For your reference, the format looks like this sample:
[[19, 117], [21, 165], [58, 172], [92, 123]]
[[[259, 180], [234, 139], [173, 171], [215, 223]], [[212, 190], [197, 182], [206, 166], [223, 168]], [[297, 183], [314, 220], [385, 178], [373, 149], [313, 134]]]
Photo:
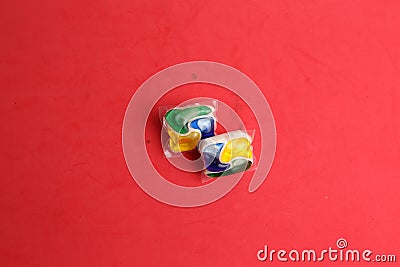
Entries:
[[187, 123], [194, 117], [210, 114], [212, 109], [208, 106], [194, 106], [189, 108], [171, 109], [165, 114], [165, 120], [171, 128], [180, 133], [187, 134]]

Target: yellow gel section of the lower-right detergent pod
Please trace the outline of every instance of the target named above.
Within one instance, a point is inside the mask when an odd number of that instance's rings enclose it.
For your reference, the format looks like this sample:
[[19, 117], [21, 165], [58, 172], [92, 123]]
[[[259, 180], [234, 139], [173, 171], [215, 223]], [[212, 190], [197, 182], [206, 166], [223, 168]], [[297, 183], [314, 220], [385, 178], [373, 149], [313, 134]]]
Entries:
[[233, 158], [244, 157], [251, 159], [253, 152], [251, 151], [251, 143], [247, 138], [236, 138], [229, 140], [221, 151], [221, 162], [228, 163]]

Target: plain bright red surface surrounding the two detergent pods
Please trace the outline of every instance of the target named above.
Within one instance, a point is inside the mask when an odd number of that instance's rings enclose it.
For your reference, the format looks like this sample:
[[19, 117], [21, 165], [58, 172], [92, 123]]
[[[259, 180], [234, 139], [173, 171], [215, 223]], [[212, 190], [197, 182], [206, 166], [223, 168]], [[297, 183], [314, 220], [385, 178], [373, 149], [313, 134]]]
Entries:
[[[147, 2], [0, 4], [1, 266], [264, 266], [264, 244], [339, 237], [399, 258], [399, 2]], [[143, 81], [191, 60], [250, 76], [278, 144], [254, 194], [246, 174], [184, 209], [135, 184], [121, 127]]]

